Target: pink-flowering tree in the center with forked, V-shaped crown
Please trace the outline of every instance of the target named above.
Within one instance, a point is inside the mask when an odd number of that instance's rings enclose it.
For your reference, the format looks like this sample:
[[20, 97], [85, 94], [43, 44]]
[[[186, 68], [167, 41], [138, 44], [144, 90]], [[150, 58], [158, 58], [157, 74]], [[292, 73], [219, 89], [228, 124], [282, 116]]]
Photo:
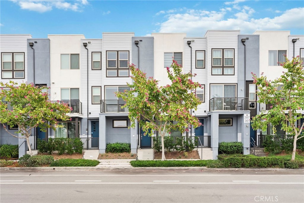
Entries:
[[201, 125], [189, 111], [190, 109], [196, 110], [201, 103], [195, 95], [196, 88], [201, 85], [190, 79], [196, 74], [183, 74], [181, 65], [174, 60], [171, 67], [173, 70], [170, 71], [170, 68], [167, 67], [167, 72], [172, 84], [158, 87], [157, 80], [152, 77], [147, 78], [146, 73], [132, 64], [130, 71], [134, 82], [128, 84], [130, 90], [116, 93], [118, 97], [122, 97], [126, 101], [124, 107], [129, 109], [131, 127], [134, 128], [136, 121], [139, 121], [145, 136], [152, 136], [151, 130], [158, 131], [162, 145], [161, 160], [165, 160], [164, 136], [167, 133], [170, 134], [171, 129], [184, 132], [188, 131], [189, 125], [193, 125], [194, 128]]

